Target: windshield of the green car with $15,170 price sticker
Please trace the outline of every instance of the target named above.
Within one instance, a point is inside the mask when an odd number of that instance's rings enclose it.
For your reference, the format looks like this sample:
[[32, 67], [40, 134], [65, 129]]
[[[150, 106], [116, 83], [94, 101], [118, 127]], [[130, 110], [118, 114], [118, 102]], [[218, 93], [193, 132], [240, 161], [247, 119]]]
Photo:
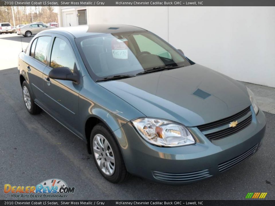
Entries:
[[190, 65], [180, 51], [148, 31], [92, 35], [77, 38], [76, 44], [95, 80], [156, 67]]

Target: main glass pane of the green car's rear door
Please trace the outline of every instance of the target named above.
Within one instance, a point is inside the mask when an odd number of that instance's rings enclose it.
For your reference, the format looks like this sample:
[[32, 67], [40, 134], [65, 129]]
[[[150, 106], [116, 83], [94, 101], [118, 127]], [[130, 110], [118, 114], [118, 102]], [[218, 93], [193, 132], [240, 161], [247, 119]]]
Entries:
[[50, 41], [51, 41], [50, 36], [42, 36], [42, 37], [38, 37], [38, 40], [36, 42], [34, 58], [40, 62], [43, 62], [44, 64], [46, 64]]

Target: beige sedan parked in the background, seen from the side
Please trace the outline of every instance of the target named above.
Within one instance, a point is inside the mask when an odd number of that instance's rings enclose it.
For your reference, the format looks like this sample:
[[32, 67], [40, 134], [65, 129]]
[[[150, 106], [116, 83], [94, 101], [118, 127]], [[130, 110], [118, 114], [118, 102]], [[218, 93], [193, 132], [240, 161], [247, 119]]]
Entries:
[[32, 35], [35, 35], [39, 33], [40, 31], [44, 31], [47, 29], [54, 29], [56, 27], [50, 27], [45, 24], [40, 24], [40, 23], [31, 23], [27, 24], [23, 27], [20, 27], [17, 29], [17, 34], [18, 35], [23, 35], [24, 37], [30, 37]]

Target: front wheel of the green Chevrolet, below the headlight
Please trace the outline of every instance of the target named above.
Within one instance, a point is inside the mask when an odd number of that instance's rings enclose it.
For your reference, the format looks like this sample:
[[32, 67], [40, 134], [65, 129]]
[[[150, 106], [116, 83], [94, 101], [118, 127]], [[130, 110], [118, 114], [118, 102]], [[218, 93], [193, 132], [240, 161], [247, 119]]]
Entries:
[[93, 128], [90, 145], [97, 169], [105, 179], [120, 183], [130, 177], [115, 137], [104, 124]]

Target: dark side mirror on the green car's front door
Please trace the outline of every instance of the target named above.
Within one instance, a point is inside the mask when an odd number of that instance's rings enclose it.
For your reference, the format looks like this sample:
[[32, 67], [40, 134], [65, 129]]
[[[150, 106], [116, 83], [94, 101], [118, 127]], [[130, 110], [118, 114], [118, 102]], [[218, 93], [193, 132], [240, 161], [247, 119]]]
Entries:
[[69, 81], [75, 82], [76, 84], [79, 83], [78, 71], [74, 72], [73, 74], [68, 67], [58, 67], [58, 68], [52, 69], [49, 73], [49, 78], [59, 79], [59, 80], [69, 80]]

